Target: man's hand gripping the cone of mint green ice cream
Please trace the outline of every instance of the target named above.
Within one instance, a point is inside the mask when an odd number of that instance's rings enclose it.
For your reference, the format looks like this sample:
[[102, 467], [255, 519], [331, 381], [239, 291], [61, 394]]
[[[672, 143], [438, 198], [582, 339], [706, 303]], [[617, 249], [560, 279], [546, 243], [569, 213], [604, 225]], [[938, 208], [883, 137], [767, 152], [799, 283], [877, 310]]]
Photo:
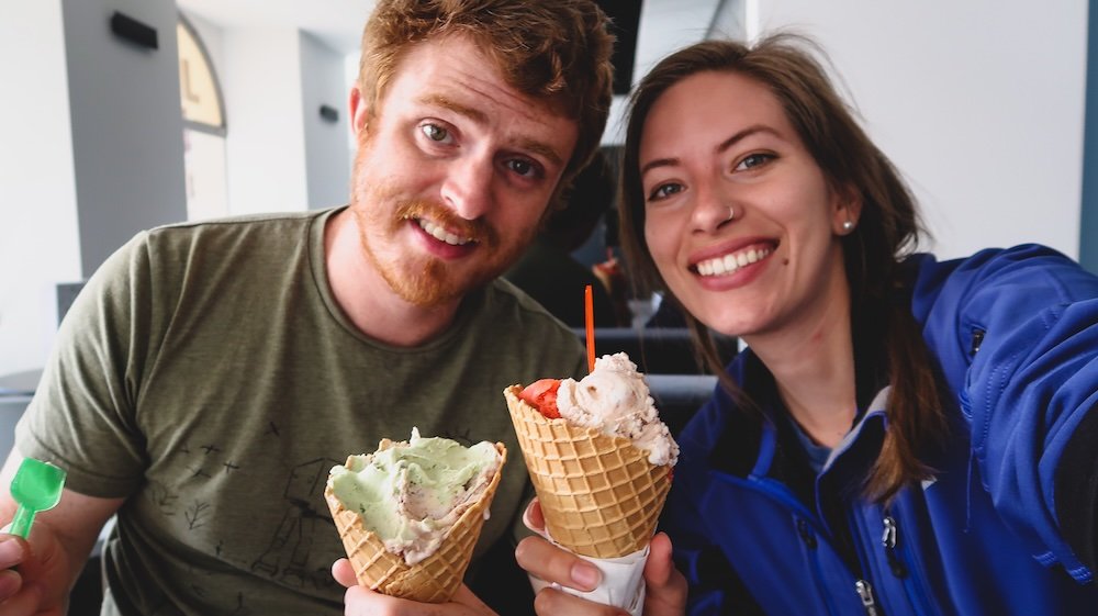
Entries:
[[[332, 576], [347, 587], [344, 595], [346, 616], [496, 616], [464, 584], [461, 584], [449, 603], [417, 603], [383, 595], [359, 585], [355, 579], [355, 569], [346, 558], [340, 558], [332, 565]], [[2, 612], [0, 616], [4, 616]]]

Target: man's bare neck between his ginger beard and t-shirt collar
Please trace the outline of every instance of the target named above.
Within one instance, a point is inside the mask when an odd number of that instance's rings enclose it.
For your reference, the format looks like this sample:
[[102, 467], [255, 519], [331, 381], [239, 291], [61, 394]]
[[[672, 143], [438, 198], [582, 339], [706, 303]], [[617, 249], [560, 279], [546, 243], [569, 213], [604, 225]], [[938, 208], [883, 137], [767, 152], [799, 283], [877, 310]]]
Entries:
[[414, 347], [442, 333], [460, 301], [417, 306], [397, 295], [367, 258], [350, 209], [328, 220], [324, 264], [336, 303], [367, 336], [400, 347]]

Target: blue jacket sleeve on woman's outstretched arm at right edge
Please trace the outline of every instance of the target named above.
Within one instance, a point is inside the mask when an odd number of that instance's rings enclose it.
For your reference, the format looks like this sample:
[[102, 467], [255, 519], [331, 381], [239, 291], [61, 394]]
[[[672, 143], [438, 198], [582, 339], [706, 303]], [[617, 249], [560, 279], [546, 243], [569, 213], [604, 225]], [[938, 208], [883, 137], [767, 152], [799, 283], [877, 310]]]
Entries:
[[983, 488], [1039, 561], [1090, 581], [1098, 278], [1034, 245], [945, 269], [928, 341], [970, 423]]

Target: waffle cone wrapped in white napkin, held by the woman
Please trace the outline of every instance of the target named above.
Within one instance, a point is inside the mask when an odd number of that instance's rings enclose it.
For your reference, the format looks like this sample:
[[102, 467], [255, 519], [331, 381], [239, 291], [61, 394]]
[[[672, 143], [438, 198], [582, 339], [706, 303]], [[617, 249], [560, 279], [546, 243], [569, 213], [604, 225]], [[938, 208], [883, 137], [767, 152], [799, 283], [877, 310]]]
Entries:
[[627, 438], [549, 419], [504, 390], [546, 529], [574, 553], [617, 558], [642, 549], [671, 489], [671, 467]]

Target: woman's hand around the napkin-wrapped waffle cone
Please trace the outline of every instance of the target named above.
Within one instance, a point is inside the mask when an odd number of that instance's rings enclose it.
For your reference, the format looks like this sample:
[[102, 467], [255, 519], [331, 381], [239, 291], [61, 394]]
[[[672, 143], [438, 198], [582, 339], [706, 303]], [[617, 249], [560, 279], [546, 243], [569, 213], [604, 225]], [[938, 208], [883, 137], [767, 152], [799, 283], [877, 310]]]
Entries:
[[[523, 515], [527, 528], [545, 535], [541, 505], [535, 499]], [[671, 561], [671, 539], [663, 533], [652, 538], [648, 562], [645, 563], [645, 616], [680, 616], [686, 612], [686, 579]], [[518, 565], [527, 573], [547, 582], [556, 582], [579, 591], [591, 591], [598, 585], [596, 567], [582, 558], [553, 546], [542, 537], [527, 537], [515, 550]], [[592, 603], [558, 590], [547, 587], [534, 600], [539, 615], [575, 614], [590, 616], [628, 616], [618, 607]]]

